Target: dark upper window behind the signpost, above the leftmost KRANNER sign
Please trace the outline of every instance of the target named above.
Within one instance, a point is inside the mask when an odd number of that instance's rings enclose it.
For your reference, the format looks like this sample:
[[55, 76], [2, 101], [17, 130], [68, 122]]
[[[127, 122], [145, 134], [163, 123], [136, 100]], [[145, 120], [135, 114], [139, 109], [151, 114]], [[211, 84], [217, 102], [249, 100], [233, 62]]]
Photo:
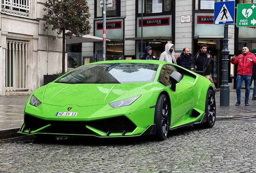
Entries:
[[[121, 8], [120, 8], [120, 0], [112, 0], [112, 6], [106, 7], [106, 17], [120, 17], [121, 16]], [[96, 17], [103, 17], [103, 7], [100, 7], [100, 1], [95, 0], [95, 9], [96, 9]]]

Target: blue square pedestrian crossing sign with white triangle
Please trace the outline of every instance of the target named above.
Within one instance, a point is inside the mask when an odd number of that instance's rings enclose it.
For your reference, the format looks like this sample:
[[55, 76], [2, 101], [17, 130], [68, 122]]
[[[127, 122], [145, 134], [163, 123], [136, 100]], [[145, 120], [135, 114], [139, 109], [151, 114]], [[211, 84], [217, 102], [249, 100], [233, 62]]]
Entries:
[[235, 23], [235, 1], [214, 3], [214, 24]]

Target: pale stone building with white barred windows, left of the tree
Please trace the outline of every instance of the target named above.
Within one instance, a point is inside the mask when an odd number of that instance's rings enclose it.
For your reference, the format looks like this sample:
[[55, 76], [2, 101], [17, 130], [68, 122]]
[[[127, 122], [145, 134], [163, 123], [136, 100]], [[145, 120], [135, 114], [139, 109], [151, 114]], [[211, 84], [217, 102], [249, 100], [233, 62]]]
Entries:
[[62, 69], [62, 38], [43, 31], [44, 3], [0, 1], [0, 96], [32, 93]]

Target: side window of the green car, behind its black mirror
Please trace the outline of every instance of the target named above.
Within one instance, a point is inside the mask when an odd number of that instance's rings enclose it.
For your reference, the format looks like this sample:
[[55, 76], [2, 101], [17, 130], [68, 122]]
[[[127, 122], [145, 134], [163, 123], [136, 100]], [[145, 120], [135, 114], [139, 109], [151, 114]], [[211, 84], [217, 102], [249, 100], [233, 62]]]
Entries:
[[170, 86], [171, 85], [171, 81], [169, 80], [169, 76], [171, 75], [172, 72], [174, 71], [178, 71], [175, 66], [172, 65], [164, 65], [162, 67], [162, 70], [160, 72], [159, 78], [158, 78], [158, 82], [160, 82], [161, 84], [165, 85], [165, 86]]

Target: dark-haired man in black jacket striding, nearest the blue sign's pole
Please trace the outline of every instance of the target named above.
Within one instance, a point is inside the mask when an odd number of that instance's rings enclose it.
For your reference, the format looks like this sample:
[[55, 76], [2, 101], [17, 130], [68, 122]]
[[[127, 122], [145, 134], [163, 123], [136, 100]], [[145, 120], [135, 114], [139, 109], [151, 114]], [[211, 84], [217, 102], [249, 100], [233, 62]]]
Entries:
[[214, 87], [215, 92], [220, 91], [220, 89], [217, 89], [215, 87], [215, 84], [213, 82], [213, 78], [211, 75], [211, 67], [210, 64], [214, 62], [213, 57], [211, 56], [210, 52], [207, 52], [207, 45], [206, 44], [201, 44], [200, 46], [200, 52], [198, 52], [192, 61], [191, 68], [190, 70], [194, 70], [196, 66], [197, 71], [204, 71], [203, 76], [208, 78]]

